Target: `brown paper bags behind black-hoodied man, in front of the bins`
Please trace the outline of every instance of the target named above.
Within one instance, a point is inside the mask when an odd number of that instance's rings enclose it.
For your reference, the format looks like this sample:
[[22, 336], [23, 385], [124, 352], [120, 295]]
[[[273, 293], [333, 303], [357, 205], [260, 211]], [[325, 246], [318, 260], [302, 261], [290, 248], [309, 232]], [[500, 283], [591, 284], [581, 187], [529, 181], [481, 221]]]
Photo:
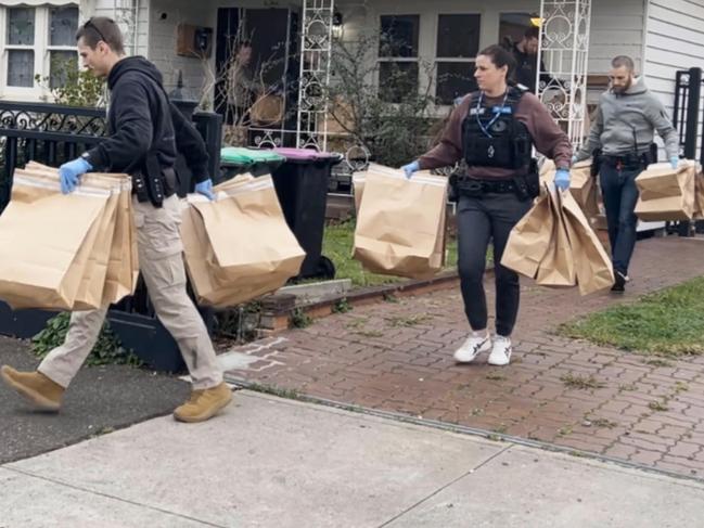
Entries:
[[283, 286], [306, 256], [289, 229], [271, 176], [241, 175], [215, 188], [216, 201], [184, 201], [181, 236], [199, 304], [228, 307]]

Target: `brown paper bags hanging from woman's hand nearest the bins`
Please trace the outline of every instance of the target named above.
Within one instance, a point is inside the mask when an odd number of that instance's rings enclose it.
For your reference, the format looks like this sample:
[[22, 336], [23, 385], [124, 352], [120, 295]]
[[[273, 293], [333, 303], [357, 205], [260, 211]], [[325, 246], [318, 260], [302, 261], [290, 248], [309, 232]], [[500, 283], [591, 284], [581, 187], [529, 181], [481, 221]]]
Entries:
[[447, 178], [371, 164], [353, 177], [353, 256], [374, 273], [430, 279], [445, 260]]

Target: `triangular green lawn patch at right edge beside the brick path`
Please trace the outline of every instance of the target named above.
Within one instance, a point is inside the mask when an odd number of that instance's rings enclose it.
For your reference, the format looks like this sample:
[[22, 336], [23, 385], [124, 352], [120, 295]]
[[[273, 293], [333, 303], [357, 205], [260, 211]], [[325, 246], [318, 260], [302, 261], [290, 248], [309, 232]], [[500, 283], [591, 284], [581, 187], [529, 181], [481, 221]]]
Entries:
[[704, 353], [704, 278], [563, 324], [559, 332], [641, 353]]

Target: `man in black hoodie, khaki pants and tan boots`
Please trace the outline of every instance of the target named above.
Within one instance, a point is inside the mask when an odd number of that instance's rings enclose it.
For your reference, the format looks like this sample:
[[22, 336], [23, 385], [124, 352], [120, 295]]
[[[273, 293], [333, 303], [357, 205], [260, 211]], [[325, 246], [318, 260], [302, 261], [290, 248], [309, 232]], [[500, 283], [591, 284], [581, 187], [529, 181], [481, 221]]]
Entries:
[[[73, 192], [81, 175], [90, 170], [132, 177], [140, 270], [156, 314], [178, 343], [193, 384], [190, 399], [174, 416], [182, 422], [208, 420], [231, 401], [232, 392], [222, 382], [213, 343], [185, 291], [174, 171], [178, 146], [196, 177], [196, 192], [213, 199], [205, 145], [168, 101], [154, 65], [143, 57], [125, 56], [120, 30], [112, 20], [90, 18], [76, 39], [84, 66], [107, 79], [110, 137], [61, 166], [62, 191]], [[98, 339], [106, 311], [107, 307], [74, 312], [64, 344], [52, 350], [36, 372], [3, 366], [0, 374], [4, 382], [37, 408], [57, 411], [65, 388]]]

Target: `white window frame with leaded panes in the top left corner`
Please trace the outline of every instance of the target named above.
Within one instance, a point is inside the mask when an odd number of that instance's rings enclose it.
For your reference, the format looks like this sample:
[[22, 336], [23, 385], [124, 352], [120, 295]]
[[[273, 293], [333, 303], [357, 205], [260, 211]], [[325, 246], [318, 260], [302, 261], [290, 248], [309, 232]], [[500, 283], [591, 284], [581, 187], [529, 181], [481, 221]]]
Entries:
[[[34, 46], [8, 46], [8, 10], [12, 8], [28, 8], [35, 10], [35, 43]], [[47, 3], [41, 5], [17, 4], [0, 7], [0, 99], [18, 100], [18, 101], [41, 101], [51, 95], [48, 87], [39, 86], [37, 82], [33, 87], [14, 87], [8, 86], [8, 67], [10, 50], [31, 50], [35, 53], [34, 75], [39, 74], [41, 78], [49, 77], [51, 73], [50, 51], [76, 51], [75, 46], [49, 46], [49, 11], [52, 8], [74, 7], [79, 10], [80, 5], [75, 1], [62, 4]], [[78, 52], [76, 51], [76, 56]]]

